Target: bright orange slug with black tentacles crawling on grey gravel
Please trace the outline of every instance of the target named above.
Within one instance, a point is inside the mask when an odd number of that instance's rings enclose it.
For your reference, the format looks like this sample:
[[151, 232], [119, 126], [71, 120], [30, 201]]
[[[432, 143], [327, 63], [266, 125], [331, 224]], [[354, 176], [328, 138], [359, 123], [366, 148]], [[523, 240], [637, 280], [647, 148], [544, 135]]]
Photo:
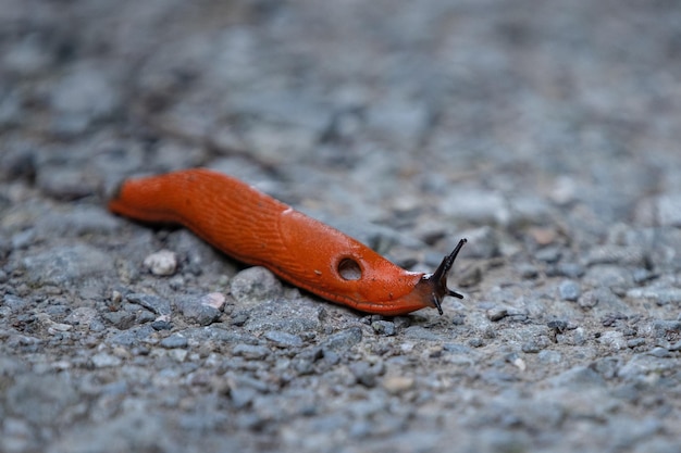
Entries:
[[323, 299], [366, 313], [442, 311], [459, 250], [433, 274], [405, 270], [349, 236], [249, 185], [203, 168], [123, 181], [109, 210], [143, 222], [181, 224], [227, 255], [269, 268]]

